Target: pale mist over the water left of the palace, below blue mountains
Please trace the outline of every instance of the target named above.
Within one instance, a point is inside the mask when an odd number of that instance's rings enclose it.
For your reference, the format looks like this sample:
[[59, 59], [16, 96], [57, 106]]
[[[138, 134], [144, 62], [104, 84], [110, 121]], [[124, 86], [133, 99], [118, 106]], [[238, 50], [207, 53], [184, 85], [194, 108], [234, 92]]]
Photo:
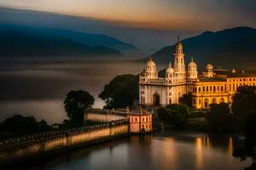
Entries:
[[145, 63], [128, 58], [0, 58], [0, 121], [20, 114], [62, 122], [67, 115], [63, 100], [70, 90], [90, 92], [94, 107], [102, 108], [98, 94], [105, 84], [117, 75], [143, 71]]

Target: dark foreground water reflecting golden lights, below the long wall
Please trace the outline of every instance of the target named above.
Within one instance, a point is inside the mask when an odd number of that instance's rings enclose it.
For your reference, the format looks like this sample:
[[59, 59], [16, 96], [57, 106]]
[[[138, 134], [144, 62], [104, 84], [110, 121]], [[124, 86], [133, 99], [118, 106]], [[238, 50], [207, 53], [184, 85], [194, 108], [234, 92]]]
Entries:
[[242, 170], [252, 161], [232, 156], [233, 147], [241, 143], [240, 136], [164, 130], [84, 146], [21, 166], [32, 170]]

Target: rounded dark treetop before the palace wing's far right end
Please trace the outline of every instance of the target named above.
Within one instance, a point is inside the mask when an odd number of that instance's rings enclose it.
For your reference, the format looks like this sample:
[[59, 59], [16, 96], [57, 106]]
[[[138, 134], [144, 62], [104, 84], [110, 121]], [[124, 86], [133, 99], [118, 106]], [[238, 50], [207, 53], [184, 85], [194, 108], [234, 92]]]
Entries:
[[248, 113], [256, 111], [256, 87], [242, 86], [237, 88], [233, 97], [232, 111], [236, 115], [246, 116]]

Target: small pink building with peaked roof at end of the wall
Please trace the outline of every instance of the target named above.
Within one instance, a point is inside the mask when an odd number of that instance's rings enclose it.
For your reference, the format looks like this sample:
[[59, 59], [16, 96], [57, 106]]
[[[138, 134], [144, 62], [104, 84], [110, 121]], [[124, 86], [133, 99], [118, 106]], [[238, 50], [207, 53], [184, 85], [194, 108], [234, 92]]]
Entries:
[[130, 133], [152, 132], [152, 113], [139, 107], [137, 110], [128, 112]]

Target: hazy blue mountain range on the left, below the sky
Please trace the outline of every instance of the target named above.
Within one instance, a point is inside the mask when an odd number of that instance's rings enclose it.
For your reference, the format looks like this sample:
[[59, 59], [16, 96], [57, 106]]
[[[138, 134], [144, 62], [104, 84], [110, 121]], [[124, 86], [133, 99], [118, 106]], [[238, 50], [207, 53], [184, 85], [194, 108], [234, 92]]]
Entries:
[[0, 37], [3, 56], [102, 55], [137, 49], [113, 37], [53, 28], [0, 24]]

